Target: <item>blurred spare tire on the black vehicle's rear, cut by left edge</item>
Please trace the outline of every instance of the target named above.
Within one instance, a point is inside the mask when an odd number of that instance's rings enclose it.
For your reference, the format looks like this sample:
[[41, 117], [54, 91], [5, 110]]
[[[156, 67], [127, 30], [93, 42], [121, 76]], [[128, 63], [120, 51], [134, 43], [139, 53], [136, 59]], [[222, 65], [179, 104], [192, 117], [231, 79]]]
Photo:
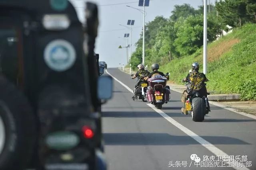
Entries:
[[35, 143], [36, 119], [28, 100], [0, 76], [0, 169], [23, 169]]

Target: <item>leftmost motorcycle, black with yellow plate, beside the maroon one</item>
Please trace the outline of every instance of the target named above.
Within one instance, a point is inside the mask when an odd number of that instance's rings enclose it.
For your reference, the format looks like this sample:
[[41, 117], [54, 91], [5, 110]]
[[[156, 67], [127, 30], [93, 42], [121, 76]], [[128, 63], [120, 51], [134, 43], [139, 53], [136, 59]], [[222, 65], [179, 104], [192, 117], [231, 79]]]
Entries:
[[[131, 76], [134, 76], [134, 74], [131, 74]], [[140, 76], [140, 77], [137, 77], [137, 83], [134, 87], [133, 92], [134, 92], [134, 95], [136, 96], [136, 99], [139, 98], [143, 102], [146, 102], [146, 90], [147, 90], [147, 87], [148, 87], [148, 82], [141, 81], [144, 77], [146, 77], [144, 74], [142, 74], [142, 76]], [[135, 100], [134, 96], [133, 96], [133, 99]]]

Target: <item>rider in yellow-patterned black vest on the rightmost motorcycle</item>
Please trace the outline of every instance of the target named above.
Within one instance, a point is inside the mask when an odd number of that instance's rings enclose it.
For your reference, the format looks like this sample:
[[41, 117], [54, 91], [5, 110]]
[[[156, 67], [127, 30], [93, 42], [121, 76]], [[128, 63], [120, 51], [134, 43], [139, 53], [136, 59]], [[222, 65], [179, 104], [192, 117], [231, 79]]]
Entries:
[[[188, 94], [193, 94], [198, 92], [201, 96], [205, 96], [207, 98], [207, 89], [204, 82], [207, 82], [204, 73], [201, 73], [199, 70], [198, 63], [192, 63], [192, 71], [188, 73], [188, 75], [182, 80], [183, 82], [188, 82], [186, 92]], [[210, 111], [210, 105], [207, 100], [208, 111]], [[185, 108], [182, 107], [182, 112], [184, 113]]]

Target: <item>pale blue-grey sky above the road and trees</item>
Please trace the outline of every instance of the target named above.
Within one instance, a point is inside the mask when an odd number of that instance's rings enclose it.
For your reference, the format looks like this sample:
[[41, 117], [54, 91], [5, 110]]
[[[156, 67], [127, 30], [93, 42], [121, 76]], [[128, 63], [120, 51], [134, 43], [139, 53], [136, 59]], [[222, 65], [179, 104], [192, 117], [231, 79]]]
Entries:
[[[88, 0], [70, 0], [76, 8], [78, 18], [84, 22], [84, 7]], [[129, 8], [139, 8], [138, 0], [90, 0], [98, 5], [99, 21], [98, 37], [96, 39], [95, 53], [100, 55], [100, 61], [105, 61], [108, 67], [118, 67], [119, 64], [127, 64], [126, 48], [119, 49], [119, 45], [126, 47], [127, 39], [124, 33], [130, 33], [130, 29], [120, 26], [127, 26], [128, 20], [135, 20], [132, 26], [132, 52], [136, 47], [134, 44], [140, 38], [143, 27], [143, 15], [140, 11]], [[169, 18], [174, 5], [190, 4], [194, 8], [202, 5], [202, 0], [150, 0], [149, 6], [145, 7], [145, 23], [154, 20], [156, 16]], [[213, 4], [214, 0], [210, 0]], [[129, 40], [128, 40], [129, 43]], [[128, 49], [128, 56], [130, 49]]]

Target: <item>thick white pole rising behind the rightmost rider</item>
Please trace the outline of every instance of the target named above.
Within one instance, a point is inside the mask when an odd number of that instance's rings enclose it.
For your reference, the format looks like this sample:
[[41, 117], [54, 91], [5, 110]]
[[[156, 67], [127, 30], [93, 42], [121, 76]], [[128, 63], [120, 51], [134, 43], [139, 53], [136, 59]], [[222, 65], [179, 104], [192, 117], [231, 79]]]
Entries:
[[203, 71], [207, 73], [207, 0], [204, 0], [204, 50]]

